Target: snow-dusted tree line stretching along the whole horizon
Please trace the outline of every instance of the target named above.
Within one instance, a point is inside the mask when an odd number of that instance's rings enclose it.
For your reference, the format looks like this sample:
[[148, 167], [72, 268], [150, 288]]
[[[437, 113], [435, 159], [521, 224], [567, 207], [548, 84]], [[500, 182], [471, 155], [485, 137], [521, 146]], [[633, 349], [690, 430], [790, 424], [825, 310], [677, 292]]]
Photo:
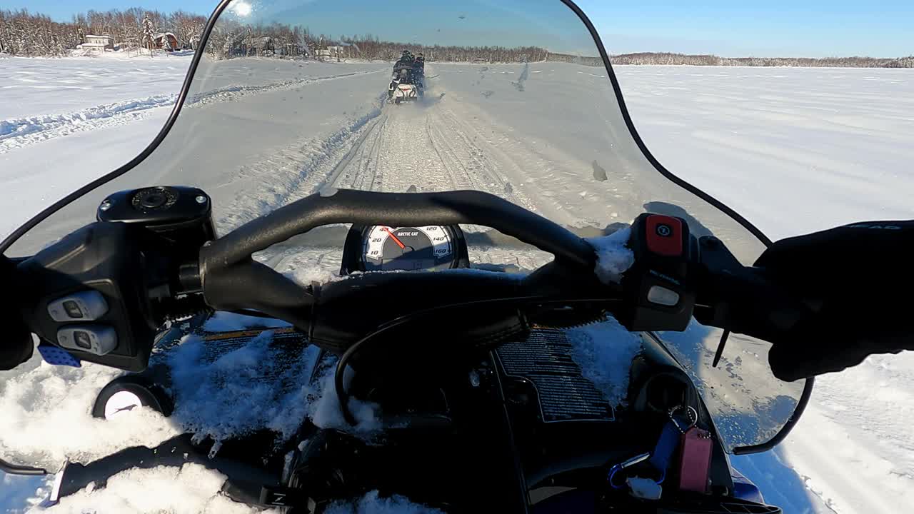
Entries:
[[[122, 48], [152, 48], [158, 33], [171, 32], [182, 48], [197, 48], [207, 17], [175, 11], [170, 14], [133, 7], [107, 12], [89, 11], [73, 16], [70, 22], [56, 22], [49, 16], [27, 10], [0, 10], [0, 53], [25, 57], [64, 56], [85, 42], [86, 35], [108, 35]], [[546, 48], [497, 46], [415, 45], [381, 40], [371, 34], [332, 37], [314, 34], [308, 27], [280, 23], [242, 25], [220, 20], [207, 44], [214, 59], [242, 56], [278, 56], [311, 59], [395, 60], [409, 49], [422, 53], [428, 61], [447, 62], [574, 62], [602, 66], [599, 57], [581, 57], [550, 52]], [[722, 58], [715, 55], [688, 55], [666, 52], [627, 53], [611, 56], [615, 65], [693, 65], [693, 66], [794, 66], [838, 68], [914, 68], [914, 56], [899, 59], [869, 57], [845, 58]]]

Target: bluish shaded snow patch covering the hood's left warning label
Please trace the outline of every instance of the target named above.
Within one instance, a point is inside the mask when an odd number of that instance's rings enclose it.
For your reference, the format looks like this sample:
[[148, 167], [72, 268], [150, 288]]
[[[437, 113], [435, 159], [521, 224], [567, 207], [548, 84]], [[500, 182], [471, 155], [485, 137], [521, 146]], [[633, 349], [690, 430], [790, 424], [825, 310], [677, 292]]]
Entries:
[[172, 420], [198, 440], [211, 437], [216, 442], [213, 455], [222, 441], [261, 429], [292, 437], [305, 418], [322, 428], [356, 434], [379, 428], [376, 406], [356, 399], [350, 409], [358, 424], [345, 423], [335, 395], [334, 367], [316, 384], [309, 383], [320, 348], [308, 346], [284, 371], [275, 373], [275, 364], [288, 357], [271, 340], [272, 331], [264, 331], [247, 345], [207, 362], [207, 341], [196, 335], [184, 337], [167, 358], [175, 393]]

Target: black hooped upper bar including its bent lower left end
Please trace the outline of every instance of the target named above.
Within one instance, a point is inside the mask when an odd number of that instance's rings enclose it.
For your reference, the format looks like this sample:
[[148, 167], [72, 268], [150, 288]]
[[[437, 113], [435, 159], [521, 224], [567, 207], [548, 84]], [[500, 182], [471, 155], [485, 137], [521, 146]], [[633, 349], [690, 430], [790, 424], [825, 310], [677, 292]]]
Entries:
[[[313, 292], [254, 262], [251, 256], [292, 236], [333, 223], [484, 225], [552, 253], [563, 269], [586, 271], [581, 274], [591, 276], [596, 262], [590, 245], [569, 230], [488, 193], [403, 194], [333, 189], [297, 200], [207, 243], [200, 250], [199, 267], [207, 304], [220, 310], [256, 309], [310, 330], [314, 318], [311, 310], [316, 303]], [[468, 278], [467, 282], [472, 283], [473, 279]], [[364, 287], [355, 291], [361, 285], [349, 285], [352, 287], [347, 289], [353, 290], [354, 297], [366, 294]]]

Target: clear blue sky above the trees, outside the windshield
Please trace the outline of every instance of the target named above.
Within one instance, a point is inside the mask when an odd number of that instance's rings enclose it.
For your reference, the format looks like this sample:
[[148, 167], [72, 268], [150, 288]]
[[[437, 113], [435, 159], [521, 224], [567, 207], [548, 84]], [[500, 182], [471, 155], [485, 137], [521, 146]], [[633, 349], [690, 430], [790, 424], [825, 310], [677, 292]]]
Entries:
[[[257, 3], [258, 0], [251, 0]], [[280, 0], [290, 4], [290, 0]], [[302, 0], [299, 0], [300, 2]], [[383, 2], [350, 0], [356, 5]], [[434, 0], [424, 0], [426, 5]], [[342, 3], [342, 2], [338, 2]], [[494, 2], [493, 2], [494, 3]], [[516, 0], [509, 0], [515, 4]], [[403, 0], [396, 2], [402, 5]], [[26, 7], [56, 19], [69, 19], [76, 11], [108, 10], [128, 5], [152, 6], [160, 11], [184, 9], [209, 14], [215, 0], [2, 0], [0, 8]], [[442, 2], [441, 5], [460, 5]], [[579, 0], [612, 53], [677, 51], [724, 56], [869, 55], [898, 57], [914, 54], [914, 1], [885, 2], [844, 0], [710, 0], [687, 2], [631, 2], [629, 0]], [[452, 10], [456, 7], [442, 7]], [[356, 9], [353, 9], [355, 11]], [[459, 8], [458, 8], [459, 10]], [[389, 11], [388, 11], [389, 13]], [[355, 15], [355, 12], [353, 12]], [[377, 13], [349, 16], [346, 27], [383, 24]], [[388, 15], [389, 16], [389, 15]], [[382, 16], [383, 17], [383, 16]], [[416, 20], [417, 26], [427, 20]], [[317, 27], [314, 24], [306, 24]], [[387, 24], [389, 26], [389, 24]], [[376, 27], [377, 28], [377, 27]], [[334, 30], [326, 30], [333, 35]], [[347, 34], [363, 30], [346, 30]], [[373, 30], [378, 34], [381, 30]], [[409, 37], [411, 38], [411, 37]]]

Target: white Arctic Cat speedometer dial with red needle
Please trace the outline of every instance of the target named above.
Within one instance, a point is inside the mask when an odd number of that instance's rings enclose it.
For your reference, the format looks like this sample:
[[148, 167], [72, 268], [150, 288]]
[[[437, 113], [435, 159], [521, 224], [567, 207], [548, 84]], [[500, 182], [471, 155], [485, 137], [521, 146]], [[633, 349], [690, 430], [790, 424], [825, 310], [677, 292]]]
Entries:
[[367, 230], [363, 250], [366, 271], [446, 269], [454, 260], [450, 230], [435, 225], [376, 225]]

